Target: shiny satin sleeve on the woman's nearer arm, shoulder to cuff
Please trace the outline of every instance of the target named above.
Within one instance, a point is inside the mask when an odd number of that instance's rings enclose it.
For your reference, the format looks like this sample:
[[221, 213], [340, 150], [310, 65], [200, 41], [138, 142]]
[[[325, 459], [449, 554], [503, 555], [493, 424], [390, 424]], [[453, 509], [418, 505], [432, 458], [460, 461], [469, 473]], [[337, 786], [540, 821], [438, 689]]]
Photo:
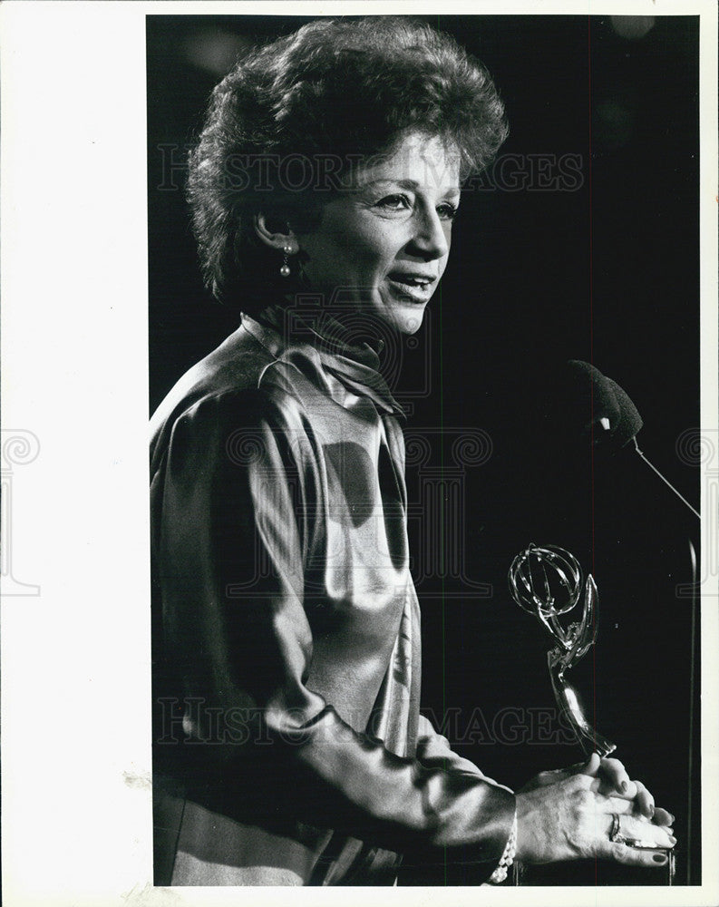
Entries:
[[228, 814], [282, 814], [489, 875], [510, 834], [510, 791], [426, 740], [416, 758], [395, 756], [306, 688], [320, 467], [302, 414], [258, 394], [205, 399], [165, 455], [156, 651], [163, 676], [184, 684], [181, 758]]

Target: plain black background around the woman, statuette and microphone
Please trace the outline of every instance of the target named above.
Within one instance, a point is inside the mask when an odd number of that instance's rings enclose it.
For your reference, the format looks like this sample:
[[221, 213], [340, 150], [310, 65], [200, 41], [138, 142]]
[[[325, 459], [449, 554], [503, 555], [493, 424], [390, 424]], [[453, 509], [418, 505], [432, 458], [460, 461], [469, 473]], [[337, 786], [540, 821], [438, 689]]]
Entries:
[[[548, 641], [506, 586], [530, 541], [573, 551], [598, 581], [601, 626], [574, 679], [617, 757], [676, 815], [676, 883], [696, 884], [695, 604], [677, 586], [692, 582], [698, 522], [630, 448], [592, 457], [540, 414], [552, 408], [559, 364], [592, 361], [634, 400], [646, 455], [698, 506], [685, 443], [699, 424], [698, 18], [419, 18], [488, 66], [511, 130], [504, 178], [491, 171], [465, 193], [423, 330], [385, 362], [411, 409], [408, 449], [417, 435], [429, 441], [407, 470], [423, 707], [448, 721], [462, 755], [508, 785], [578, 761], [549, 712]], [[305, 21], [148, 17], [151, 409], [237, 326], [201, 285], [185, 149], [237, 55]], [[539, 173], [537, 155], [574, 156], [574, 185], [550, 165]], [[479, 454], [457, 460], [452, 444], [472, 433]], [[614, 867], [563, 872], [534, 870], [531, 881], [656, 883]], [[410, 867], [404, 881], [471, 877]]]

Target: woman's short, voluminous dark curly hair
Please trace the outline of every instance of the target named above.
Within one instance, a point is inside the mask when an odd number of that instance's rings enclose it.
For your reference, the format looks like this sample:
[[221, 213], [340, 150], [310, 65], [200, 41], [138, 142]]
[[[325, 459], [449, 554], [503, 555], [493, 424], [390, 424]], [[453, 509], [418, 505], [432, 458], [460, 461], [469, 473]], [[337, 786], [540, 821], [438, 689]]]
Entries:
[[[403, 134], [456, 148], [461, 176], [507, 136], [489, 73], [452, 37], [392, 16], [316, 19], [243, 57], [215, 88], [189, 157], [188, 198], [208, 288], [251, 313], [287, 280], [257, 239], [262, 211], [312, 226], [347, 171]], [[243, 298], [244, 297], [244, 298]]]

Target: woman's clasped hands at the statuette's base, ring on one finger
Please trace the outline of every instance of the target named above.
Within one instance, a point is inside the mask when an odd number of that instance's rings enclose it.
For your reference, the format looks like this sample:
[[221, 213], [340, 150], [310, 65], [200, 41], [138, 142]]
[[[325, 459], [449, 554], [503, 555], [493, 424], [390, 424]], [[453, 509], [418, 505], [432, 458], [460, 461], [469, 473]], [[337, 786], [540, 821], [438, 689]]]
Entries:
[[610, 841], [614, 815], [627, 838], [657, 848], [676, 843], [674, 816], [655, 809], [646, 787], [630, 780], [617, 759], [593, 754], [587, 763], [542, 772], [517, 795], [517, 858], [525, 863], [586, 857], [639, 866], [666, 863], [663, 853]]

